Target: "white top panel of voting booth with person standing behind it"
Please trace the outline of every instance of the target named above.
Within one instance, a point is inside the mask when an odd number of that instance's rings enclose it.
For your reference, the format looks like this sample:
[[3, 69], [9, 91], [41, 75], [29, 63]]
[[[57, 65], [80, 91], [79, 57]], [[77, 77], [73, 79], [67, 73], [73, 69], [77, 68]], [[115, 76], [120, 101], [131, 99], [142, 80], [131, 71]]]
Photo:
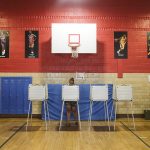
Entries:
[[79, 86], [63, 85], [62, 86], [62, 99], [64, 101], [77, 101], [79, 100]]

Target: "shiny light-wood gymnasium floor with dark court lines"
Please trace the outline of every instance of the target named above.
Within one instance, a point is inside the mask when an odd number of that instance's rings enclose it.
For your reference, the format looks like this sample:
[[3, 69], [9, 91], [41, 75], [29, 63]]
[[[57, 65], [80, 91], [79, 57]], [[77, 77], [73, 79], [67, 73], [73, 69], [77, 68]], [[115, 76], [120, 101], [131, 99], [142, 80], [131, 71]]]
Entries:
[[116, 131], [108, 131], [105, 122], [82, 121], [81, 131], [72, 123], [58, 131], [59, 122], [51, 121], [45, 131], [44, 121], [33, 119], [26, 131], [26, 119], [0, 119], [1, 150], [148, 150], [150, 120], [135, 119], [136, 130], [128, 128], [127, 119], [119, 119]]

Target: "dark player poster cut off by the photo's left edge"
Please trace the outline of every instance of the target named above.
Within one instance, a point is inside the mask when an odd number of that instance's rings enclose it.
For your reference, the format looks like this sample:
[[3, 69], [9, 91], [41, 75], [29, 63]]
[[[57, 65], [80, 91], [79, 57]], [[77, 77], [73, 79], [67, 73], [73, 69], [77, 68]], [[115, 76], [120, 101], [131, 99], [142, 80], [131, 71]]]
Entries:
[[0, 58], [9, 58], [9, 31], [0, 30]]

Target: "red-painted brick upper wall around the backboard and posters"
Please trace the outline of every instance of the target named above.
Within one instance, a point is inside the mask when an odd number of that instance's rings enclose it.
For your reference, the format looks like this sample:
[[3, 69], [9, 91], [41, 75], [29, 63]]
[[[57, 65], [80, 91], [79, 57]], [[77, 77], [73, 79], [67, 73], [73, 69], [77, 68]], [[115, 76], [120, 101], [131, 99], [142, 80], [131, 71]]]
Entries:
[[[10, 57], [0, 72], [150, 72], [148, 0], [3, 0], [0, 30], [10, 31]], [[51, 54], [51, 23], [96, 23], [97, 54]], [[25, 58], [25, 30], [39, 30], [39, 58]], [[128, 32], [128, 59], [114, 59], [114, 31]]]

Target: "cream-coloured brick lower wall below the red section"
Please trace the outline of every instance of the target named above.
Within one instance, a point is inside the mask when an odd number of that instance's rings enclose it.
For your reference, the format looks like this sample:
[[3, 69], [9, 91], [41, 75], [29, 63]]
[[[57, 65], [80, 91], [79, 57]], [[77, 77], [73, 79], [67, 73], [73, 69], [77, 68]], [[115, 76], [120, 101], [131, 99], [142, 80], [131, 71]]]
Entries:
[[[85, 73], [85, 80], [75, 80], [76, 84], [131, 84], [133, 86], [134, 113], [143, 114], [150, 108], [150, 83], [148, 73], [125, 73], [123, 78], [117, 78], [116, 73]], [[75, 73], [1, 73], [0, 76], [32, 76], [33, 84], [67, 84]], [[41, 113], [41, 103], [33, 104], [33, 113]], [[126, 113], [126, 104], [121, 103], [117, 114]]]

